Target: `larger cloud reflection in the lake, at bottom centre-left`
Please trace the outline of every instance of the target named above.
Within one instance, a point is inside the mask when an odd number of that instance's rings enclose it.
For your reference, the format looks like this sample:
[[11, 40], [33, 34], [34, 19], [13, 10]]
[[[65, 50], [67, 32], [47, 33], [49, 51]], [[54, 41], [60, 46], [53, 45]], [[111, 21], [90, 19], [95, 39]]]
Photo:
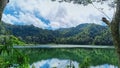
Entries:
[[[48, 60], [42, 60], [36, 63], [33, 63], [30, 68], [33, 66], [35, 68], [66, 68], [70, 64], [69, 60], [59, 60], [59, 59], [48, 59]], [[79, 68], [79, 63], [76, 61], [72, 61], [72, 64], [75, 68]]]

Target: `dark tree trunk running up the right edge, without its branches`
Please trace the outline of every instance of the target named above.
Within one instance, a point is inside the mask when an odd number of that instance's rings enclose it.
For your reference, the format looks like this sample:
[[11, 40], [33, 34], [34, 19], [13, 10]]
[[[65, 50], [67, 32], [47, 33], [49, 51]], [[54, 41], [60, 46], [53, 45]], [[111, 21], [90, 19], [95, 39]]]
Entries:
[[118, 65], [120, 68], [120, 0], [117, 0], [116, 12], [110, 24], [113, 42], [118, 54]]

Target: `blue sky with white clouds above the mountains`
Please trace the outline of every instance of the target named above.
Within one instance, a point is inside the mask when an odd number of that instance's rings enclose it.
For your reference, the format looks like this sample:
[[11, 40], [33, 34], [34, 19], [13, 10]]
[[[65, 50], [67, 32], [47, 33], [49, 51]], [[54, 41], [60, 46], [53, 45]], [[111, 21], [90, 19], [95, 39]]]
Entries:
[[[115, 9], [108, 6], [109, 2], [104, 2], [103, 5], [93, 4], [112, 19]], [[5, 7], [2, 21], [15, 25], [32, 24], [53, 30], [76, 27], [83, 23], [105, 25], [101, 18], [106, 16], [95, 7], [92, 4], [83, 6], [51, 0], [10, 0]]]

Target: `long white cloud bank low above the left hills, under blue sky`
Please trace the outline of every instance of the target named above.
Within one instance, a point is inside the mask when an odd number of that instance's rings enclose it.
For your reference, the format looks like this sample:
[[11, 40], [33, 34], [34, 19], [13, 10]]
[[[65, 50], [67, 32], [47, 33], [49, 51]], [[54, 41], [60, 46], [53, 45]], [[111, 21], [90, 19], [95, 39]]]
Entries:
[[17, 17], [14, 17], [10, 14], [3, 14], [3, 21], [10, 24], [23, 24], [23, 25], [31, 25], [33, 24], [36, 27], [40, 27], [45, 29], [45, 27], [48, 27], [45, 23], [43, 23], [40, 19], [36, 18], [34, 15], [29, 13], [22, 13], [20, 12], [20, 15]]

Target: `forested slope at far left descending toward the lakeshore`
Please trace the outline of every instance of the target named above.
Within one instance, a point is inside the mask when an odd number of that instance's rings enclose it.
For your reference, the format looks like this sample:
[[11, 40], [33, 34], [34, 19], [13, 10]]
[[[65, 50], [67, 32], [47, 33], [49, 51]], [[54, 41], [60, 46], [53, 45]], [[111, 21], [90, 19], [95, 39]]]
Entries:
[[7, 24], [0, 22], [0, 45], [12, 46], [16, 44], [24, 44], [22, 40], [10, 34], [9, 30], [5, 28]]

